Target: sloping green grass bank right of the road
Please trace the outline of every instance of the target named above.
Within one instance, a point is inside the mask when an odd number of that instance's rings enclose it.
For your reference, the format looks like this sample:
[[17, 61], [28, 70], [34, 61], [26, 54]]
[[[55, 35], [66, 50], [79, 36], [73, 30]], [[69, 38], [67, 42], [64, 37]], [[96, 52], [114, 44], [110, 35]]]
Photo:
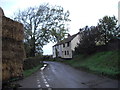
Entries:
[[77, 55], [72, 60], [62, 61], [75, 68], [89, 72], [118, 78], [120, 75], [120, 51], [98, 52], [90, 56]]

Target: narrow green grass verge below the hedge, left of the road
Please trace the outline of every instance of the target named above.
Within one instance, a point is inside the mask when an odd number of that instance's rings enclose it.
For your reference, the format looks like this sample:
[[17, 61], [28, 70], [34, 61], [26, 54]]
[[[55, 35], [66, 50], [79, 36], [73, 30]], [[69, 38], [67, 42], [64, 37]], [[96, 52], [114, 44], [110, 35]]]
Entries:
[[43, 66], [43, 64], [40, 64], [36, 67], [33, 67], [32, 69], [24, 70], [23, 71], [23, 76], [24, 77], [31, 76], [33, 73], [37, 72], [42, 66]]

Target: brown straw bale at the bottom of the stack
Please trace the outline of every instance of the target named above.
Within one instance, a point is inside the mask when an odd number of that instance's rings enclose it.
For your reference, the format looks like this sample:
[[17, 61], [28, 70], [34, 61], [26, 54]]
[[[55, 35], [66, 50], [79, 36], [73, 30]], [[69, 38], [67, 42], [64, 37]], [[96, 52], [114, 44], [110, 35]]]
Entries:
[[22, 62], [18, 62], [16, 60], [7, 61], [7, 63], [3, 62], [2, 71], [3, 71], [2, 73], [3, 80], [6, 80], [12, 77], [22, 76], [22, 72], [23, 72]]

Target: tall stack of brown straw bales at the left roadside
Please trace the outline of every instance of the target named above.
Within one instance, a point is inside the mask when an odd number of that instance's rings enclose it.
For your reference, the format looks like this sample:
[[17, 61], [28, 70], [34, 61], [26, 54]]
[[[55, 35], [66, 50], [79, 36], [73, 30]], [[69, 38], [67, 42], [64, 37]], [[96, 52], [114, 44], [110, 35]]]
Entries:
[[21, 77], [24, 52], [23, 25], [2, 16], [2, 80]]

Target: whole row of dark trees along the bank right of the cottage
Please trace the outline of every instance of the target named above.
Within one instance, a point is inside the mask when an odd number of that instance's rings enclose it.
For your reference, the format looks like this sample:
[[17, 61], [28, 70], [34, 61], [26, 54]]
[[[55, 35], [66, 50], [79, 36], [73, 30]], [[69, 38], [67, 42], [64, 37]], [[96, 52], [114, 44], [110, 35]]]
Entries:
[[111, 40], [120, 38], [120, 26], [117, 26], [114, 16], [105, 16], [97, 26], [81, 28], [80, 35], [80, 44], [75, 48], [74, 54], [92, 54], [100, 45], [107, 46]]

